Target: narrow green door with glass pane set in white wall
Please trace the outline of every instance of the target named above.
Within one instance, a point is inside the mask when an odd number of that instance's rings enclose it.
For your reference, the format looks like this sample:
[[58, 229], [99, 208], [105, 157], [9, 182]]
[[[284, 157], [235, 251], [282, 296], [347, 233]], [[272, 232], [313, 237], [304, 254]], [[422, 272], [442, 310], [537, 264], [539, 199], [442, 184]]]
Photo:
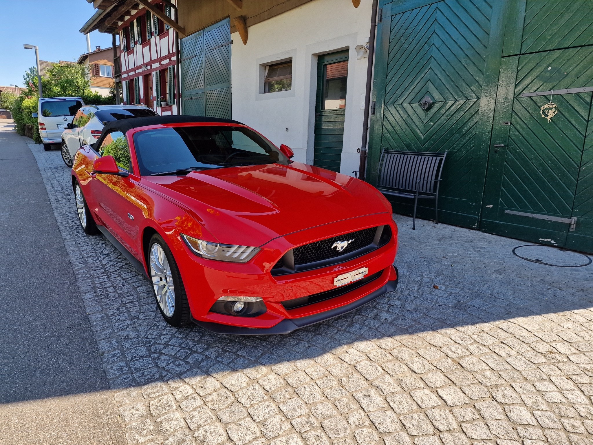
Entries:
[[347, 51], [318, 57], [313, 164], [333, 171], [342, 160], [347, 76]]

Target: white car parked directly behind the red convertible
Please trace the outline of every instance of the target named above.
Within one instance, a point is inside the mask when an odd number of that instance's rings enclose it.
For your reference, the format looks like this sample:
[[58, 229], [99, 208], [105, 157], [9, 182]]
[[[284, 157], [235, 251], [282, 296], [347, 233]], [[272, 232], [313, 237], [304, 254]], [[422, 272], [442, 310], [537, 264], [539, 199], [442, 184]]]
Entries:
[[62, 133], [62, 160], [72, 167], [76, 151], [97, 142], [107, 122], [146, 116], [157, 116], [157, 113], [144, 105], [85, 105]]

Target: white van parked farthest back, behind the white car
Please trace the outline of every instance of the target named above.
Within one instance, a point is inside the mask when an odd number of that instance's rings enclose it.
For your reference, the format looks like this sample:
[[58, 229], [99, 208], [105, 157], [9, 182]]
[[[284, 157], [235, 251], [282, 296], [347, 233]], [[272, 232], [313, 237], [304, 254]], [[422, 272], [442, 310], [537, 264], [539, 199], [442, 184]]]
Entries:
[[52, 150], [52, 144], [62, 144], [62, 132], [78, 109], [84, 105], [80, 97], [48, 97], [39, 99], [37, 117], [39, 135], [45, 150]]

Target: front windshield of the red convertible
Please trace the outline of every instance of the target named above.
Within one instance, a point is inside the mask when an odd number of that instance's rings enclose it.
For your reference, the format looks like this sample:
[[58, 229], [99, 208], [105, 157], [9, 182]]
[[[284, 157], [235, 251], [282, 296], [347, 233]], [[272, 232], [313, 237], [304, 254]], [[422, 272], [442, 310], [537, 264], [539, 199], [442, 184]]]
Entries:
[[200, 125], [145, 130], [134, 135], [134, 146], [142, 176], [179, 174], [176, 170], [184, 169], [289, 163], [262, 136], [243, 127]]

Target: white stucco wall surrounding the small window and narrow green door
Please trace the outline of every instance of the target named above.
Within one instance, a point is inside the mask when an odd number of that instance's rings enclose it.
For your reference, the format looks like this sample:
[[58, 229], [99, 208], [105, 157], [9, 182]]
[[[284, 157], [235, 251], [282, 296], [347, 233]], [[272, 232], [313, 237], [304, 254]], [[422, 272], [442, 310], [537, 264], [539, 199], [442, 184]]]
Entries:
[[[346, 0], [314, 0], [250, 26], [245, 46], [233, 33], [232, 118], [276, 145], [291, 147], [294, 160], [313, 164], [317, 56], [349, 49], [340, 169], [353, 176], [359, 165], [368, 61], [356, 60], [355, 46], [368, 42], [371, 6], [371, 0], [362, 0], [358, 8]], [[260, 66], [291, 57], [292, 90], [260, 94]]]

